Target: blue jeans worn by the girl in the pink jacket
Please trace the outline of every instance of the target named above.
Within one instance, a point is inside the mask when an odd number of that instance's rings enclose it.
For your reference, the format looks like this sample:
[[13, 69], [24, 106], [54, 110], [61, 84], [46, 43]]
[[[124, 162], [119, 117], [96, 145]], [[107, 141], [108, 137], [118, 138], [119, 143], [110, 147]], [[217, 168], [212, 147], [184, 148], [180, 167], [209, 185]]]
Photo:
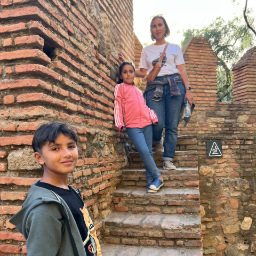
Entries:
[[154, 181], [154, 178], [160, 178], [161, 173], [156, 167], [153, 158], [152, 125], [143, 128], [126, 128], [126, 130], [146, 166], [147, 182], [151, 183]]

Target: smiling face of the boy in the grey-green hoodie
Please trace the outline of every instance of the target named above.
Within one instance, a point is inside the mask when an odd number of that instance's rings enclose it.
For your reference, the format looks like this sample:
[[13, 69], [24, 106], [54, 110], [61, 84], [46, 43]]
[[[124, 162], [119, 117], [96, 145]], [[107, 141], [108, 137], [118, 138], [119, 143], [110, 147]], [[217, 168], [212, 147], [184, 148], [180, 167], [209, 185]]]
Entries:
[[73, 139], [60, 133], [54, 143], [46, 142], [42, 147], [41, 154], [36, 152], [37, 162], [44, 166], [44, 171], [55, 175], [68, 174], [74, 170], [78, 150]]

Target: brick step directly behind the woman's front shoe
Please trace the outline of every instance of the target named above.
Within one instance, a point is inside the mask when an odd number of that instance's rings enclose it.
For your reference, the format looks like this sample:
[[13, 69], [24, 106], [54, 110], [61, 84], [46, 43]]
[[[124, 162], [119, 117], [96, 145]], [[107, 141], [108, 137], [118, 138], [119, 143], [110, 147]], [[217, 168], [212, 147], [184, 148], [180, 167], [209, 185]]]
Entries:
[[[153, 152], [154, 160], [157, 167], [163, 166], [163, 157], [162, 152]], [[145, 166], [140, 158], [138, 152], [131, 152], [127, 154], [129, 158], [130, 167], [143, 167]], [[173, 159], [173, 163], [176, 167], [197, 167], [198, 166], [198, 156], [196, 150], [190, 151], [175, 151], [175, 156]]]

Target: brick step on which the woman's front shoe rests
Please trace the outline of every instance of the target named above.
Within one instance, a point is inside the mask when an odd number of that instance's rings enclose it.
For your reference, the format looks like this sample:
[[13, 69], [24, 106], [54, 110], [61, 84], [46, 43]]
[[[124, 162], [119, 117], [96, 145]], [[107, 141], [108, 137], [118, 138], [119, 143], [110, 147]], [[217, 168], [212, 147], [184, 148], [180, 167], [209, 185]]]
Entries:
[[[164, 170], [159, 168], [164, 178], [164, 187], [199, 187], [198, 168], [177, 168]], [[146, 169], [125, 169], [122, 171], [122, 186], [147, 186]]]

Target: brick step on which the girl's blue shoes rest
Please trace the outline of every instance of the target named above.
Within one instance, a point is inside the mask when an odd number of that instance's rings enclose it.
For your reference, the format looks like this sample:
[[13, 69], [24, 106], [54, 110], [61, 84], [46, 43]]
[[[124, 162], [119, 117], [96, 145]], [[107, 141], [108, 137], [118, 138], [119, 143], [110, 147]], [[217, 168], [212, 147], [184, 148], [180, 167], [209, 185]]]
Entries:
[[114, 192], [116, 211], [199, 215], [200, 193], [195, 188], [161, 188], [147, 193], [146, 188], [126, 187]]

